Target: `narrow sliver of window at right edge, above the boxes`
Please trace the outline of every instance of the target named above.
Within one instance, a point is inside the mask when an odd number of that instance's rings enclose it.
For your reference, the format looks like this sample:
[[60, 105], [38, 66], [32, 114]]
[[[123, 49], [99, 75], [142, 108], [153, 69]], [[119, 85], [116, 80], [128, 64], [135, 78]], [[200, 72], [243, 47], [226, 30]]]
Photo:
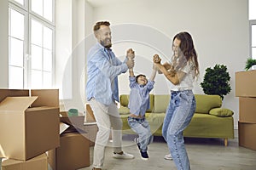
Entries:
[[250, 54], [256, 59], [256, 0], [249, 0]]

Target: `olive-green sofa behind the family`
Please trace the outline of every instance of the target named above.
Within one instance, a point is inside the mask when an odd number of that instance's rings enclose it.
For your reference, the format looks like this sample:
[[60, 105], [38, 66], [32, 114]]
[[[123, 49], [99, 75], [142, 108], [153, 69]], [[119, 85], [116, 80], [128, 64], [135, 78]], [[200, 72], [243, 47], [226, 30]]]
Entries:
[[[146, 118], [154, 136], [162, 135], [162, 124], [166, 115], [170, 95], [150, 94], [150, 108]], [[189, 126], [184, 130], [184, 137], [224, 139], [224, 145], [228, 145], [228, 139], [234, 139], [233, 111], [221, 108], [222, 99], [218, 95], [195, 94], [195, 115]], [[119, 114], [123, 121], [123, 133], [134, 134], [128, 125], [127, 117], [129, 95], [120, 95]]]

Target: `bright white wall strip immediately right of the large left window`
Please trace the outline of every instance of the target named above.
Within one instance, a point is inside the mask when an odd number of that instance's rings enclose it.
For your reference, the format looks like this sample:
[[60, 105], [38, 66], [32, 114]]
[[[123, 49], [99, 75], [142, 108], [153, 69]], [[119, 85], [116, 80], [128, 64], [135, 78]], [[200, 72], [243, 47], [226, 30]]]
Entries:
[[[71, 63], [68, 59], [72, 52], [72, 0], [55, 1], [55, 87], [60, 89], [60, 99], [72, 96], [72, 91], [64, 90], [65, 87], [72, 88], [71, 80], [63, 80], [63, 76], [71, 77]], [[65, 88], [64, 87], [64, 88]]]

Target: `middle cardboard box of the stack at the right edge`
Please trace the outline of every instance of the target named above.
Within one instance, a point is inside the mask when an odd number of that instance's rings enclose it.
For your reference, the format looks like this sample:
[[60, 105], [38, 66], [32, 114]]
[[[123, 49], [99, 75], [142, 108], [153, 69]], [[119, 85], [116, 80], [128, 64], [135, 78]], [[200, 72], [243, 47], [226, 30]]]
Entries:
[[256, 123], [256, 98], [239, 98], [239, 122]]

